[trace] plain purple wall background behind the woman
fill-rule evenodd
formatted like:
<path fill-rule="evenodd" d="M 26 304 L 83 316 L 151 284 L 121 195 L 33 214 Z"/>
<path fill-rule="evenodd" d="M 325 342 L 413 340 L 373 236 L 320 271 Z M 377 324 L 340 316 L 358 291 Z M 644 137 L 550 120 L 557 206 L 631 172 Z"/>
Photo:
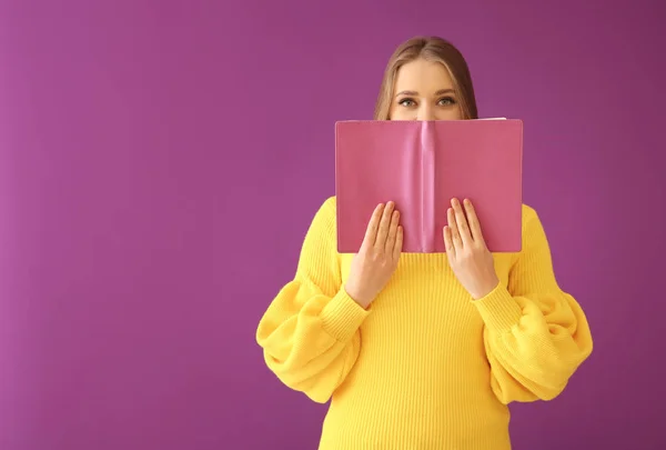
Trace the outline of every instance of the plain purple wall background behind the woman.
<path fill-rule="evenodd" d="M 2 2 L 0 448 L 314 449 L 325 407 L 254 332 L 334 193 L 334 121 L 421 33 L 525 121 L 525 201 L 593 327 L 515 449 L 664 448 L 666 14 L 609 4 Z"/>

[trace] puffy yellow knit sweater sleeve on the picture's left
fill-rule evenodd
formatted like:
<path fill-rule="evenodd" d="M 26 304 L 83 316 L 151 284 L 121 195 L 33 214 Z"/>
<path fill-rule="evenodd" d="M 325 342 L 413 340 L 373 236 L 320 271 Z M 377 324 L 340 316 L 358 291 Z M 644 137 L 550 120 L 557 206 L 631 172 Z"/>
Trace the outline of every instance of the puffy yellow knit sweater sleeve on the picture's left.
<path fill-rule="evenodd" d="M 320 403 L 329 401 L 355 363 L 359 329 L 370 314 L 341 280 L 334 201 L 330 198 L 316 212 L 294 278 L 278 292 L 256 330 L 268 368 Z"/>

